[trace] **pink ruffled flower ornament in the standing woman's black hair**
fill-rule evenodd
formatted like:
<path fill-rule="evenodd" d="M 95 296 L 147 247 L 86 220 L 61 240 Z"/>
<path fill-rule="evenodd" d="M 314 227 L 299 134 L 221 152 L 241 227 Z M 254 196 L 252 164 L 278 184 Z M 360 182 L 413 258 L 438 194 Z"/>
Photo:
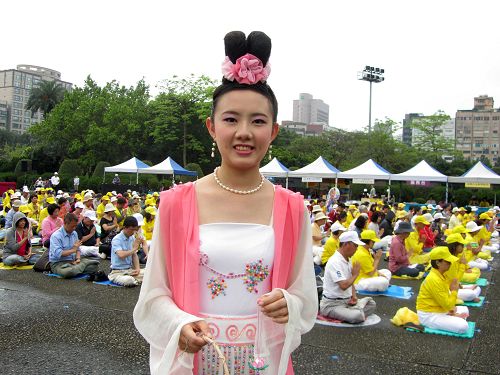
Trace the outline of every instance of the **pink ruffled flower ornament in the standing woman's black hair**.
<path fill-rule="evenodd" d="M 222 63 L 222 74 L 228 81 L 236 81 L 247 85 L 254 85 L 257 82 L 265 82 L 271 74 L 271 65 L 266 66 L 258 57 L 247 53 L 233 64 L 226 56 Z"/>

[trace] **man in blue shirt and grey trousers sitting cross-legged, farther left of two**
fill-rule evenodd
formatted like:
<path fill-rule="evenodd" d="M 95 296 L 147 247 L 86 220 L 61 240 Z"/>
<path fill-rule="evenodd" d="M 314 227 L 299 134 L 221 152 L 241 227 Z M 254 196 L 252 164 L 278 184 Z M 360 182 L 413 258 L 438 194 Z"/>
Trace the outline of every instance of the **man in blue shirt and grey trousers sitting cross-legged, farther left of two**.
<path fill-rule="evenodd" d="M 50 237 L 50 269 L 65 279 L 80 274 L 95 275 L 99 268 L 98 260 L 81 258 L 79 248 L 82 241 L 75 231 L 77 225 L 78 217 L 68 213 L 64 217 L 64 225 Z"/>

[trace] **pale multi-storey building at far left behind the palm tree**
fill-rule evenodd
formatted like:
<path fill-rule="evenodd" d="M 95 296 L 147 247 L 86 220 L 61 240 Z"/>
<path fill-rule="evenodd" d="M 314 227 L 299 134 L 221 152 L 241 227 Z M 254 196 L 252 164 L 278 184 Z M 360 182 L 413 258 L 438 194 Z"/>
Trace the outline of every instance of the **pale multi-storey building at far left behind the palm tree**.
<path fill-rule="evenodd" d="M 22 134 L 43 118 L 38 111 L 33 116 L 26 110 L 33 87 L 41 81 L 57 81 L 65 90 L 73 85 L 61 80 L 61 73 L 34 65 L 18 65 L 16 69 L 0 70 L 0 128 Z M 6 121 L 2 125 L 2 103 L 6 103 Z"/>

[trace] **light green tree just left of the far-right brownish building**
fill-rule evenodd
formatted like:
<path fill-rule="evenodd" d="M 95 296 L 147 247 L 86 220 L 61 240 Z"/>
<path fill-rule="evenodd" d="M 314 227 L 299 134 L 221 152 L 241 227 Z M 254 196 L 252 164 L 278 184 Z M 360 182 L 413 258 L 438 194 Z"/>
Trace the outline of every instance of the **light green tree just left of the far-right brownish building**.
<path fill-rule="evenodd" d="M 411 127 L 415 135 L 413 146 L 424 151 L 429 161 L 437 162 L 443 155 L 453 153 L 453 141 L 443 136 L 443 125 L 450 116 L 438 111 L 431 116 L 414 119 Z"/>

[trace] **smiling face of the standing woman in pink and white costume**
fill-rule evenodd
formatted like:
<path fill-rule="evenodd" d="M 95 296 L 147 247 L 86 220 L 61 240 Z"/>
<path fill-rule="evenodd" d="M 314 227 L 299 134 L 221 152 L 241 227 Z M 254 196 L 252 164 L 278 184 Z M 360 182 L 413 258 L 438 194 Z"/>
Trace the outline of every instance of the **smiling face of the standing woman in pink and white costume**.
<path fill-rule="evenodd" d="M 222 95 L 214 119 L 206 121 L 223 163 L 233 168 L 258 167 L 278 135 L 269 100 L 252 90 L 233 90 Z"/>

